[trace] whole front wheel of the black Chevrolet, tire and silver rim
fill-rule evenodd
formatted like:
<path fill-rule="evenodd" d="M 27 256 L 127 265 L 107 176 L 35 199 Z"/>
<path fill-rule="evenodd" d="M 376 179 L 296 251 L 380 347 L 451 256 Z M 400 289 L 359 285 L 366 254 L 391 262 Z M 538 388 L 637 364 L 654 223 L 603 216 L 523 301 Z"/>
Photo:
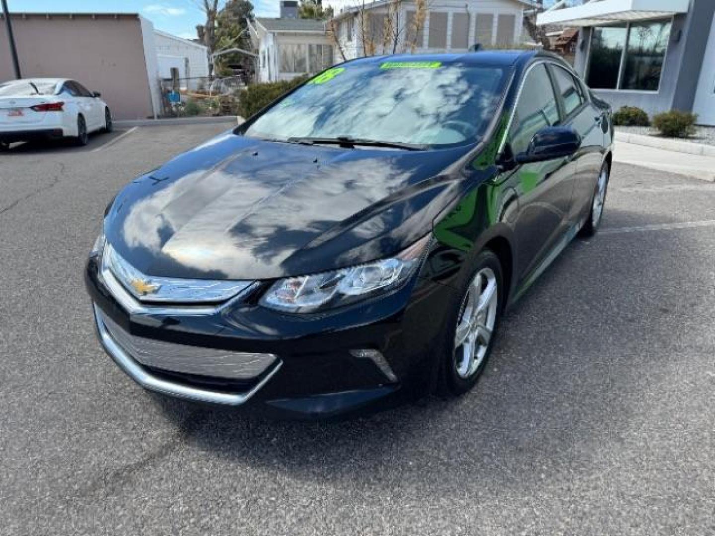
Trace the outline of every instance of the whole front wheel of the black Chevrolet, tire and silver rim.
<path fill-rule="evenodd" d="M 499 326 L 505 296 L 501 262 L 485 249 L 473 266 L 450 316 L 440 352 L 438 390 L 443 396 L 459 396 L 474 387 L 489 359 Z"/>

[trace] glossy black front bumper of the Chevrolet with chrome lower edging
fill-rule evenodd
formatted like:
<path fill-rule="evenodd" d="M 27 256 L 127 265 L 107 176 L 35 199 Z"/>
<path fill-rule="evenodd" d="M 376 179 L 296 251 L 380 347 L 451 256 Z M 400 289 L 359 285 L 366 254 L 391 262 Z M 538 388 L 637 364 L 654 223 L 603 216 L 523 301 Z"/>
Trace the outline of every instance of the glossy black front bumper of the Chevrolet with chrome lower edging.
<path fill-rule="evenodd" d="M 213 313 L 130 312 L 109 292 L 97 261 L 89 259 L 85 272 L 97 333 L 134 381 L 175 397 L 298 418 L 368 410 L 424 394 L 433 372 L 430 349 L 441 327 L 435 311 L 449 310 L 452 298 L 448 287 L 418 278 L 375 302 L 331 314 L 269 311 L 256 303 L 260 289 Z M 255 377 L 242 378 L 147 366 L 108 324 L 134 337 L 194 347 L 199 356 L 219 349 L 277 359 Z"/>

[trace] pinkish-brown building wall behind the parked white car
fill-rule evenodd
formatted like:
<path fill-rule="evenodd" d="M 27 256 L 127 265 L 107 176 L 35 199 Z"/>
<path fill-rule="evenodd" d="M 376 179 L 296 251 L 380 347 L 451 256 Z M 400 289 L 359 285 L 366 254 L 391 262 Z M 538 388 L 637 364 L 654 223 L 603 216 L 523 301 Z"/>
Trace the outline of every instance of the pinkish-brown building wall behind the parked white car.
<path fill-rule="evenodd" d="M 99 91 L 117 119 L 144 119 L 152 103 L 136 15 L 11 15 L 24 78 L 77 79 Z M 0 16 L 0 81 L 14 78 Z"/>

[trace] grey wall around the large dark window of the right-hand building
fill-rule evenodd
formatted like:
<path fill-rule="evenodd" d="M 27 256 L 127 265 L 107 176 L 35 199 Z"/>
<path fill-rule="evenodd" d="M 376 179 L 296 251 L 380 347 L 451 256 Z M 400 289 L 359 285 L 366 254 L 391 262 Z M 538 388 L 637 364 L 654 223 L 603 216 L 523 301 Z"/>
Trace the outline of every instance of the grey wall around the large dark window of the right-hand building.
<path fill-rule="evenodd" d="M 693 0 L 688 14 L 674 16 L 659 91 L 596 89 L 593 92 L 611 104 L 614 110 L 621 106 L 637 106 L 651 116 L 670 109 L 690 111 L 714 11 L 715 1 Z M 591 28 L 581 29 L 579 44 L 582 40 L 585 44 L 576 49 L 574 68 L 583 76 L 586 74 L 590 39 Z"/>

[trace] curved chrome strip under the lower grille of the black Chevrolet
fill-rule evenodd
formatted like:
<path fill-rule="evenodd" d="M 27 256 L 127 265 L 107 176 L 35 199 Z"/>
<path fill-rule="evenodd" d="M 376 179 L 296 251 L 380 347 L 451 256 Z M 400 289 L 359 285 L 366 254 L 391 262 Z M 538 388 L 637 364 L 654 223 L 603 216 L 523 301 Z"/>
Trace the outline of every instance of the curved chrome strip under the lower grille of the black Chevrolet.
<path fill-rule="evenodd" d="M 167 382 L 167 380 L 158 378 L 149 374 L 146 369 L 142 367 L 139 362 L 135 361 L 112 337 L 112 334 L 107 328 L 107 322 L 112 322 L 107 320 L 102 314 L 101 310 L 97 305 L 94 307 L 94 319 L 97 322 L 97 331 L 99 332 L 99 339 L 102 342 L 102 346 L 107 350 L 109 356 L 114 359 L 119 367 L 124 370 L 129 377 L 134 379 L 139 385 L 145 389 L 150 389 L 152 391 L 162 392 L 164 394 L 170 394 L 174 397 L 187 398 L 192 400 L 198 400 L 200 402 L 211 402 L 213 404 L 225 404 L 225 405 L 242 405 L 250 397 L 252 397 L 256 392 L 258 392 L 273 375 L 278 372 L 282 362 L 280 359 L 275 360 L 275 365 L 273 368 L 265 374 L 265 377 L 258 382 L 255 387 L 250 389 L 250 391 L 245 393 L 225 393 L 225 392 L 215 392 L 208 389 L 199 389 L 197 387 L 189 387 L 183 384 L 176 384 L 174 382 Z M 120 328 L 121 329 L 121 328 Z"/>

